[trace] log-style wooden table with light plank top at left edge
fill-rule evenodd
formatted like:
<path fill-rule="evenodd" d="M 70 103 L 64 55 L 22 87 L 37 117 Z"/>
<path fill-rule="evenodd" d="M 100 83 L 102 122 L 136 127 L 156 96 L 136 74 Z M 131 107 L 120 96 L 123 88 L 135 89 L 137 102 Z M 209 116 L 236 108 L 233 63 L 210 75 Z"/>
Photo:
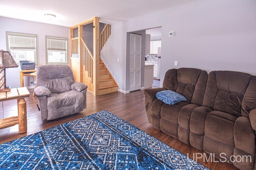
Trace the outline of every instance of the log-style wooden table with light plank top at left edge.
<path fill-rule="evenodd" d="M 18 102 L 18 116 L 0 119 L 0 129 L 19 124 L 19 133 L 27 131 L 27 105 L 24 98 L 29 96 L 30 92 L 26 87 L 12 88 L 10 92 L 0 92 L 0 102 L 14 99 Z"/>

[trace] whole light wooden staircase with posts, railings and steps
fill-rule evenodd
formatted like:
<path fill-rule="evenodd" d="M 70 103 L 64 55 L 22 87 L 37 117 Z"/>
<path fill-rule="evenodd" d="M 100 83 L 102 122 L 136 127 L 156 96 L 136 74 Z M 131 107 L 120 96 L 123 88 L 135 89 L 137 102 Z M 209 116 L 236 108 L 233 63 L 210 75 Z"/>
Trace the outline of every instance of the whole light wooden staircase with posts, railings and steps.
<path fill-rule="evenodd" d="M 93 25 L 93 51 L 90 51 L 84 41 L 84 25 Z M 75 35 L 75 29 L 78 35 Z M 111 25 L 106 24 L 100 33 L 98 17 L 91 18 L 82 23 L 70 27 L 70 68 L 76 82 L 83 82 L 88 86 L 87 90 L 94 96 L 118 91 L 118 85 L 110 74 L 106 65 L 100 59 L 100 50 L 104 47 L 111 35 Z M 76 37 L 75 37 L 76 36 Z"/>

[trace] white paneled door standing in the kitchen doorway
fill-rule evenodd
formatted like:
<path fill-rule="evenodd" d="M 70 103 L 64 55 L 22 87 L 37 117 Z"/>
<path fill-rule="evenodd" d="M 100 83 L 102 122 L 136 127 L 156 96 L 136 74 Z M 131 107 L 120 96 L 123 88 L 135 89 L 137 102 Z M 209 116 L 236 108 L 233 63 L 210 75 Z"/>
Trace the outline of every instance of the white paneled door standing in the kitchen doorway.
<path fill-rule="evenodd" d="M 130 92 L 141 89 L 142 35 L 130 33 Z"/>

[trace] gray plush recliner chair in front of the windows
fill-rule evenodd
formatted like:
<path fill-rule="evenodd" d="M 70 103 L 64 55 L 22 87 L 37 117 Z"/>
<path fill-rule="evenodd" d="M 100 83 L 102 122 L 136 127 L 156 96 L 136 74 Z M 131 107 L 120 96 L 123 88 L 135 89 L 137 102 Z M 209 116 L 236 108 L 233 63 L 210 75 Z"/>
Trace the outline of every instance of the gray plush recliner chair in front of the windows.
<path fill-rule="evenodd" d="M 74 82 L 67 65 L 38 66 L 34 94 L 38 99 L 42 120 L 53 120 L 86 108 L 87 86 Z"/>

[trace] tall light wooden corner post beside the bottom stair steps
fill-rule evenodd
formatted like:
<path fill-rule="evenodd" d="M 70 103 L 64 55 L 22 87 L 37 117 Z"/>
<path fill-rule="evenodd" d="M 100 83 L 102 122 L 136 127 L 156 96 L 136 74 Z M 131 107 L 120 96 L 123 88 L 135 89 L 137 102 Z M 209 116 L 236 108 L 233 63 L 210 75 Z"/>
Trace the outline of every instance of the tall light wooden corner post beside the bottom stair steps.
<path fill-rule="evenodd" d="M 100 20 L 93 18 L 93 95 L 99 95 L 100 64 Z"/>

